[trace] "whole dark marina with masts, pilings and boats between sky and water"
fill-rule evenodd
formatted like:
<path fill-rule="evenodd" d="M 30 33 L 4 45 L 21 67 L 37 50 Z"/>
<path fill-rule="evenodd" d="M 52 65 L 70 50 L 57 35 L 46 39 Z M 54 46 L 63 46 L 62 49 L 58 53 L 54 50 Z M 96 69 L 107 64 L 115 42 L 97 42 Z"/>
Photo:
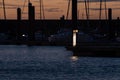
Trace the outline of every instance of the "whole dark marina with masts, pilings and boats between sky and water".
<path fill-rule="evenodd" d="M 119 56 L 120 20 L 112 18 L 112 8 L 106 9 L 106 19 L 102 20 L 102 0 L 98 20 L 89 19 L 89 1 L 85 1 L 86 20 L 78 20 L 77 0 L 68 1 L 67 15 L 59 20 L 45 20 L 44 5 L 40 2 L 40 19 L 35 19 L 35 6 L 28 1 L 28 20 L 22 20 L 22 10 L 17 8 L 17 20 L 6 20 L 3 1 L 4 20 L 1 21 L 1 45 L 28 46 L 66 46 L 73 53 L 81 52 L 114 52 Z M 71 20 L 68 20 L 71 3 Z M 25 5 L 24 5 L 25 6 Z M 24 8 L 23 6 L 23 8 Z M 65 19 L 66 17 L 66 19 Z M 84 54 L 83 54 L 84 55 Z M 88 54 L 86 54 L 88 55 Z M 91 55 L 98 55 L 92 54 Z M 90 55 L 88 55 L 90 56 Z M 100 56 L 106 56 L 101 54 Z M 109 55 L 108 55 L 109 56 Z M 112 56 L 112 54 L 110 54 Z"/>

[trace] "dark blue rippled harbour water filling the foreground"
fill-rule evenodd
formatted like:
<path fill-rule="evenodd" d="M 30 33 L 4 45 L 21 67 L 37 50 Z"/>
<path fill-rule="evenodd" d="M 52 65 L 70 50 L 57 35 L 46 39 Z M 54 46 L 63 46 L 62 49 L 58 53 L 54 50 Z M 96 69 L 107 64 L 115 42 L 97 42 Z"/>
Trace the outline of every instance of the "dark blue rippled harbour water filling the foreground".
<path fill-rule="evenodd" d="M 0 46 L 0 80 L 120 80 L 119 58 L 71 57 L 64 47 Z"/>

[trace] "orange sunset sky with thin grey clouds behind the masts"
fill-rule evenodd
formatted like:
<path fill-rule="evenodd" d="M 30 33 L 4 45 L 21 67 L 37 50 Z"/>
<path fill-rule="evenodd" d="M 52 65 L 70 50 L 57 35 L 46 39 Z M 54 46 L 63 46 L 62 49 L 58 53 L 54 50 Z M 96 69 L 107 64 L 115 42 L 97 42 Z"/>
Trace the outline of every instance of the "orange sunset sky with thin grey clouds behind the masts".
<path fill-rule="evenodd" d="M 23 10 L 25 0 L 5 0 L 7 19 L 16 19 L 16 9 L 20 7 Z M 26 0 L 27 1 L 27 0 Z M 86 19 L 84 0 L 78 0 L 79 19 Z M 99 18 L 99 0 L 90 0 L 90 19 Z M 104 1 L 104 0 L 103 0 Z M 31 0 L 35 6 L 36 19 L 39 19 L 39 0 Z M 59 19 L 62 15 L 67 14 L 68 0 L 43 0 L 45 19 Z M 27 19 L 27 5 L 22 14 L 22 19 Z M 107 0 L 107 8 L 113 9 L 113 18 L 120 17 L 120 0 Z M 71 8 L 70 8 L 71 10 Z M 71 18 L 71 11 L 69 19 Z M 105 18 L 104 2 L 102 5 L 102 18 Z M 2 0 L 0 0 L 0 19 L 4 19 Z"/>

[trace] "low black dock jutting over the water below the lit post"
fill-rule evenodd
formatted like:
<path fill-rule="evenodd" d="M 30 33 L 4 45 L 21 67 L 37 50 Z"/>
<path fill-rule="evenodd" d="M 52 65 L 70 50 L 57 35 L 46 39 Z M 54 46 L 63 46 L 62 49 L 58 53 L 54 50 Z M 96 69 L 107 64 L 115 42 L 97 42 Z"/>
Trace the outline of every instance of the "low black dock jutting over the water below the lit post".
<path fill-rule="evenodd" d="M 75 47 L 67 46 L 74 56 L 82 57 L 120 57 L 120 43 L 81 43 Z"/>

